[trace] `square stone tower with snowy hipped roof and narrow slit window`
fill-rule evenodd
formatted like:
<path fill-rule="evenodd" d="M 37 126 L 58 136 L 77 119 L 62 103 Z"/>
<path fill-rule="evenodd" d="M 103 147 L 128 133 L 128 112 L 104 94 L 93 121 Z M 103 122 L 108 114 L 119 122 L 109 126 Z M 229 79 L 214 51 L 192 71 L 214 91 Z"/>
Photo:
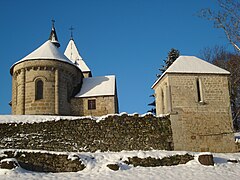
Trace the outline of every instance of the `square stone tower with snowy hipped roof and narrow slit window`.
<path fill-rule="evenodd" d="M 170 114 L 175 150 L 234 152 L 230 73 L 180 56 L 153 84 L 156 113 Z"/>

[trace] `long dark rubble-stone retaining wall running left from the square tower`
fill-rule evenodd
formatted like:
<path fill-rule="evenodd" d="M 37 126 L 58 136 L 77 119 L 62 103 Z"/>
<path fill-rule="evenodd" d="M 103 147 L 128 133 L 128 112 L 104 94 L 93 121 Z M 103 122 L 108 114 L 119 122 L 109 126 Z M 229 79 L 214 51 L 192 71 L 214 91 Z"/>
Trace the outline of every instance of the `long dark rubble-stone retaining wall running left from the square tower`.
<path fill-rule="evenodd" d="M 1 120 L 0 120 L 1 121 Z M 173 150 L 169 117 L 108 116 L 39 123 L 0 123 L 1 149 L 51 151 Z"/>

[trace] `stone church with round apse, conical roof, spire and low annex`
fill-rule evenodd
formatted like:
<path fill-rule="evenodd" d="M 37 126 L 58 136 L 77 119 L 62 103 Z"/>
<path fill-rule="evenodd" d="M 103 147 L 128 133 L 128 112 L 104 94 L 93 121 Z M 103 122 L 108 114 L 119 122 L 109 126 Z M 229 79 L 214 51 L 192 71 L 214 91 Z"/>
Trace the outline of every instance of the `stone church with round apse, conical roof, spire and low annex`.
<path fill-rule="evenodd" d="M 11 66 L 12 114 L 118 113 L 116 77 L 93 77 L 72 35 L 64 53 L 59 47 L 53 22 L 49 39 Z"/>

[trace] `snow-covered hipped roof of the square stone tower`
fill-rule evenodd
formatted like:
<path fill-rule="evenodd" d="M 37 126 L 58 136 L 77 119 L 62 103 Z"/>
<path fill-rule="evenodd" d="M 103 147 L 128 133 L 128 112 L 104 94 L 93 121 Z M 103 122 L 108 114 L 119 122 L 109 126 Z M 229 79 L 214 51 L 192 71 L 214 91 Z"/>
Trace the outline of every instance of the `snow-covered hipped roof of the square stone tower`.
<path fill-rule="evenodd" d="M 230 74 L 230 72 L 195 56 L 179 56 L 161 77 L 155 81 L 152 88 L 167 73 Z"/>

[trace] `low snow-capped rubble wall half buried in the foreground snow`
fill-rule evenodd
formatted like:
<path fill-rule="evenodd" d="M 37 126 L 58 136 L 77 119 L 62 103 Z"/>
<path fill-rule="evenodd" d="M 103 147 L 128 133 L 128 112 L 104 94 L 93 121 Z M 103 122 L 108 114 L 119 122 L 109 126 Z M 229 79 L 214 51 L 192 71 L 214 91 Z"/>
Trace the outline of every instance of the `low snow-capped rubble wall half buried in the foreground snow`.
<path fill-rule="evenodd" d="M 94 153 L 93 153 L 94 154 Z M 208 155 L 209 156 L 209 155 Z M 1 150 L 0 151 L 0 169 L 13 169 L 21 167 L 23 169 L 35 172 L 77 172 L 85 168 L 89 169 L 88 165 L 101 164 L 101 161 L 106 161 L 102 157 L 101 160 L 96 160 L 96 157 L 91 154 L 81 153 L 59 153 L 54 151 L 31 151 L 31 150 Z M 108 159 L 109 157 L 107 157 Z M 126 170 L 131 166 L 142 167 L 157 167 L 157 166 L 174 166 L 186 164 L 194 159 L 193 155 L 189 154 L 172 154 L 161 159 L 154 157 L 139 158 L 138 156 L 128 156 L 127 160 L 122 158 L 115 159 L 114 164 L 111 159 L 108 163 L 102 164 L 111 170 Z M 92 164 L 93 163 L 93 164 Z M 96 164 L 97 163 L 97 164 Z M 104 168 L 104 167 L 102 167 Z"/>

